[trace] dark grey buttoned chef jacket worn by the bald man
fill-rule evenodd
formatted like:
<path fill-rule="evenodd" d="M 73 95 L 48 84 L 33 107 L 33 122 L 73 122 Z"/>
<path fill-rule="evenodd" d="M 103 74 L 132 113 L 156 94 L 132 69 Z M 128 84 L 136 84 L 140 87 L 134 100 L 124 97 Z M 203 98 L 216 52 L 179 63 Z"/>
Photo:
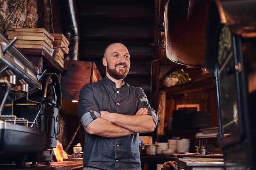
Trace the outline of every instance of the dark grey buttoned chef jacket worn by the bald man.
<path fill-rule="evenodd" d="M 107 76 L 99 82 L 85 84 L 79 94 L 79 116 L 86 126 L 97 117 L 100 111 L 123 115 L 135 115 L 139 108 L 147 108 L 157 125 L 157 115 L 150 107 L 147 97 L 140 87 L 124 83 L 115 87 Z M 141 122 L 144 124 L 144 122 Z M 124 137 L 105 138 L 85 132 L 83 165 L 104 170 L 141 170 L 139 155 L 139 134 Z"/>

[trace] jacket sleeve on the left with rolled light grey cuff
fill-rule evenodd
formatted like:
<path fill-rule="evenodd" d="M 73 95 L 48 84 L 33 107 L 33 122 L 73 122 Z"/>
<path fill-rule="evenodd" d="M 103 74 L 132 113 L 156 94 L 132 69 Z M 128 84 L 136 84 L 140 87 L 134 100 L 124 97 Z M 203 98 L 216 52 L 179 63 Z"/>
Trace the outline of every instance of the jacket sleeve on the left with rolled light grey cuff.
<path fill-rule="evenodd" d="M 85 84 L 80 90 L 78 112 L 85 129 L 90 122 L 97 117 L 101 117 L 99 104 L 94 98 L 94 93 L 90 84 Z"/>

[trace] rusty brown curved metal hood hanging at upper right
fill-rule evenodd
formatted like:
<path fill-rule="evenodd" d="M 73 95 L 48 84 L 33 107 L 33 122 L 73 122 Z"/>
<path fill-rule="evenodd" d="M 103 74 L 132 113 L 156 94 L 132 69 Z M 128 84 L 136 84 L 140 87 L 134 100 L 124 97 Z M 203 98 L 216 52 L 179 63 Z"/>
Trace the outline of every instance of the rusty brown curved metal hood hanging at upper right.
<path fill-rule="evenodd" d="M 166 55 L 173 62 L 204 67 L 204 40 L 208 1 L 193 9 L 184 20 L 175 4 L 169 1 L 165 8 Z"/>

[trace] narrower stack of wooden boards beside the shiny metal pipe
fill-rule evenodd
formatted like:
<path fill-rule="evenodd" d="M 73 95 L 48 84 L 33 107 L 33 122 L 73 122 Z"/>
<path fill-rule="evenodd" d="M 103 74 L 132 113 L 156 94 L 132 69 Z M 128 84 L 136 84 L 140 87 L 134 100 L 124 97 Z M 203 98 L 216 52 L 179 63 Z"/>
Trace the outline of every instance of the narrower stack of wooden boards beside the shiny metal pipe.
<path fill-rule="evenodd" d="M 54 46 L 52 57 L 64 68 L 64 54 L 68 54 L 70 42 L 63 34 L 54 33 L 51 35 L 54 37 L 54 41 L 52 42 Z"/>

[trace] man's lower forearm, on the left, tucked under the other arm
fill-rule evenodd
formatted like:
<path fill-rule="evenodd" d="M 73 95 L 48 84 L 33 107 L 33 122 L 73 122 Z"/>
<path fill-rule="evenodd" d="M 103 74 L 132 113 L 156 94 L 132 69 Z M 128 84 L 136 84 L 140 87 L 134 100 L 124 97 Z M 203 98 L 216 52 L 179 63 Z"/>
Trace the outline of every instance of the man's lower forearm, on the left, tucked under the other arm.
<path fill-rule="evenodd" d="M 123 137 L 135 133 L 127 130 L 126 128 L 115 125 L 101 117 L 98 117 L 88 124 L 86 127 L 86 132 L 90 133 L 91 135 L 98 135 L 107 138 Z"/>

